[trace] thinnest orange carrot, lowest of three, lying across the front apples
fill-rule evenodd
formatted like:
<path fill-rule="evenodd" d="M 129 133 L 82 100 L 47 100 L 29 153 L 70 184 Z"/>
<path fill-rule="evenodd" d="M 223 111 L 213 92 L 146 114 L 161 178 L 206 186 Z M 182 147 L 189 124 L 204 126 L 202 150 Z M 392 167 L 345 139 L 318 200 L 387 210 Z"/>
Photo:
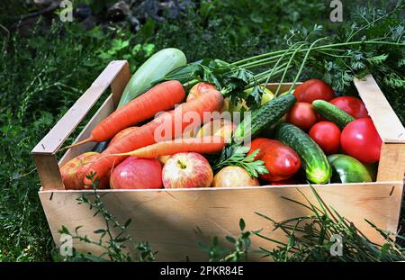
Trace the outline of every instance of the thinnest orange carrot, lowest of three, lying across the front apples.
<path fill-rule="evenodd" d="M 174 155 L 181 152 L 196 152 L 211 154 L 220 152 L 225 146 L 225 140 L 220 136 L 205 136 L 202 138 L 185 138 L 166 140 L 127 153 L 110 156 L 134 156 L 138 158 L 157 158 L 158 156 Z"/>

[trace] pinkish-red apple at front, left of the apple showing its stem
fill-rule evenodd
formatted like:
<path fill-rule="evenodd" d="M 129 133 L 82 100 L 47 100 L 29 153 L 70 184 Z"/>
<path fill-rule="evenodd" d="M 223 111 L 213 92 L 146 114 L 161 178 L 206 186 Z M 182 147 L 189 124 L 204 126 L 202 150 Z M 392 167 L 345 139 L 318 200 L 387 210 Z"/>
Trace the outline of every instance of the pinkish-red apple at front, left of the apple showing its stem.
<path fill-rule="evenodd" d="M 128 157 L 112 170 L 111 188 L 162 188 L 162 167 L 155 158 Z"/>

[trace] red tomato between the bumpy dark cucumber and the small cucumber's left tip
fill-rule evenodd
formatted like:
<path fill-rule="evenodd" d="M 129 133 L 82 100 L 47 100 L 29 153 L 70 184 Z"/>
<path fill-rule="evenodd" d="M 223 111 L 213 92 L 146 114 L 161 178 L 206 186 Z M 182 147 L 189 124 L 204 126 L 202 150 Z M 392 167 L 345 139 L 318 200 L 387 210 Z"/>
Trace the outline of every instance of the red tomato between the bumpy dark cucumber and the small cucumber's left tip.
<path fill-rule="evenodd" d="M 301 128 L 302 131 L 308 131 L 317 122 L 317 113 L 312 109 L 312 104 L 297 102 L 287 114 L 286 120 Z"/>

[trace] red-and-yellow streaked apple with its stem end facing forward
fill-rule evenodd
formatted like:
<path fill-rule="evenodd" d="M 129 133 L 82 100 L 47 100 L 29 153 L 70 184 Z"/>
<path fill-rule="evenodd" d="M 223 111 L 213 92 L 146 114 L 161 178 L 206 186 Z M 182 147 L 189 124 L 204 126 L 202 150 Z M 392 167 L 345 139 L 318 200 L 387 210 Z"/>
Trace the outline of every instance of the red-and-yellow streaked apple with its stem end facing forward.
<path fill-rule="evenodd" d="M 184 152 L 167 159 L 162 178 L 165 188 L 209 187 L 213 174 L 206 158 L 198 153 Z"/>

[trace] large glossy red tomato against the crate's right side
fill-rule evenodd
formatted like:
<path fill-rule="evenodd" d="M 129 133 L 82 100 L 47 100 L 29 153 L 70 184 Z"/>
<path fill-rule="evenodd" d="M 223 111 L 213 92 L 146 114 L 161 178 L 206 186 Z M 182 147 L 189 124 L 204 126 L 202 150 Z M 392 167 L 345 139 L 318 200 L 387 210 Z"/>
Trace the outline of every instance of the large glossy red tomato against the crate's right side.
<path fill-rule="evenodd" d="M 340 143 L 347 155 L 363 163 L 374 163 L 380 160 L 383 141 L 370 118 L 349 122 L 342 131 Z"/>

